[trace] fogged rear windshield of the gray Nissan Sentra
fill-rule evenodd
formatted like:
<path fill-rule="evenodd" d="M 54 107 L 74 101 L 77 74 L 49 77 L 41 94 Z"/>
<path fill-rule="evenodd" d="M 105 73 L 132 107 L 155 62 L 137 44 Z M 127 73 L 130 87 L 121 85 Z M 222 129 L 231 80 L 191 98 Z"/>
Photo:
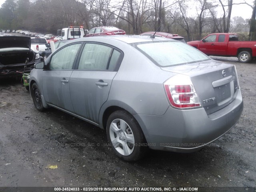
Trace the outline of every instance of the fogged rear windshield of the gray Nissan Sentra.
<path fill-rule="evenodd" d="M 144 42 L 136 44 L 136 48 L 161 67 L 210 60 L 192 46 L 178 41 Z"/>

